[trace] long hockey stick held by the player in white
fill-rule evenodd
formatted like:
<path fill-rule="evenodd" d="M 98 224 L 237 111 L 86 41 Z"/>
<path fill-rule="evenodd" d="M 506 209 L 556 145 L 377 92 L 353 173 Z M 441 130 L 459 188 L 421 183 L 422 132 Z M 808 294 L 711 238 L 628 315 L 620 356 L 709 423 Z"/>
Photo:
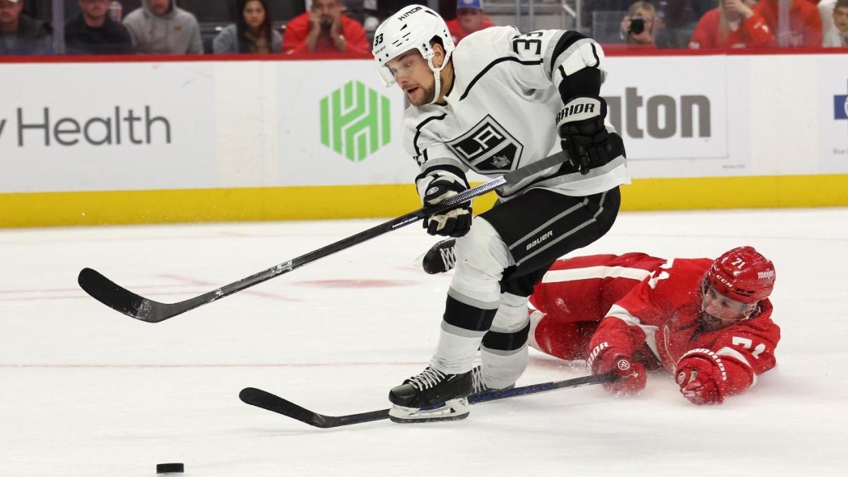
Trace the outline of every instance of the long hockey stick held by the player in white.
<path fill-rule="evenodd" d="M 253 275 L 242 278 L 237 282 L 230 283 L 215 289 L 204 295 L 199 295 L 189 300 L 179 301 L 177 303 L 160 303 L 159 301 L 144 298 L 141 295 L 136 295 L 119 284 L 114 283 L 109 278 L 106 278 L 100 272 L 92 268 L 83 268 L 77 278 L 80 287 L 86 291 L 88 295 L 92 295 L 95 300 L 109 306 L 116 311 L 120 311 L 129 317 L 136 318 L 142 322 L 159 323 L 167 320 L 170 317 L 176 317 L 181 313 L 193 310 L 198 306 L 204 306 L 227 295 L 232 295 L 237 291 L 247 289 L 255 284 L 265 282 L 271 278 L 282 275 L 283 273 L 291 272 L 295 268 L 303 267 L 307 263 L 316 261 L 320 258 L 332 255 L 340 250 L 345 250 L 355 244 L 361 244 L 366 240 L 373 239 L 383 233 L 391 232 L 399 227 L 404 227 L 412 222 L 417 222 L 427 216 L 438 213 L 443 210 L 448 210 L 454 205 L 466 202 L 479 195 L 486 194 L 494 189 L 504 186 L 514 186 L 527 177 L 531 177 L 538 172 L 544 171 L 550 167 L 557 166 L 568 160 L 565 153 L 557 153 L 550 155 L 543 160 L 538 160 L 529 166 L 524 166 L 515 171 L 507 172 L 502 177 L 494 179 L 494 181 L 486 182 L 476 188 L 470 188 L 465 192 L 456 194 L 438 205 L 423 207 L 414 212 L 410 212 L 405 216 L 392 219 L 384 222 L 377 227 L 371 227 L 368 230 L 357 233 L 341 239 L 333 244 L 321 247 L 321 249 L 313 250 L 305 255 L 300 255 L 290 261 L 283 262 L 275 267 L 268 268 L 262 272 L 254 273 Z"/>

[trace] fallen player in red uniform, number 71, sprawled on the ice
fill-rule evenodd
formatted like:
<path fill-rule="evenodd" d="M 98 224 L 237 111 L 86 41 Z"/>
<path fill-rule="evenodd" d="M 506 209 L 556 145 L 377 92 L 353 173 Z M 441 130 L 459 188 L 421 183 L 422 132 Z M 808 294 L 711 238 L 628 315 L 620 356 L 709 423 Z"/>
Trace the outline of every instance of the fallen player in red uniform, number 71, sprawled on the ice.
<path fill-rule="evenodd" d="M 531 345 L 593 373 L 614 394 L 644 389 L 645 369 L 674 373 L 684 397 L 718 404 L 775 365 L 775 273 L 752 247 L 710 259 L 592 255 L 557 261 L 536 285 Z M 599 323 L 600 322 L 600 323 Z"/>

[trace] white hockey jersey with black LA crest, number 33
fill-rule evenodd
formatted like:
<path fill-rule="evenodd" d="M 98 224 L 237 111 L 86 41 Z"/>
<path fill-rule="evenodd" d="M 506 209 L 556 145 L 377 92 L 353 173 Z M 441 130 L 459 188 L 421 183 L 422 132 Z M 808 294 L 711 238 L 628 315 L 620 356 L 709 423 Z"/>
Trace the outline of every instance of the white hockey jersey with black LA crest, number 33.
<path fill-rule="evenodd" d="M 566 75 L 595 67 L 604 71 L 604 53 L 593 40 L 577 36 L 557 51 L 562 30 L 522 35 L 514 27 L 477 31 L 454 50 L 454 84 L 447 104 L 412 106 L 404 114 L 404 147 L 421 166 L 419 192 L 432 176 L 466 182 L 470 169 L 499 176 L 561 151 L 555 116 L 562 108 L 558 85 Z M 555 57 L 554 57 L 555 56 Z M 612 126 L 607 125 L 610 132 Z M 460 172 L 461 171 L 461 172 Z M 503 191 L 503 199 L 530 188 L 584 196 L 629 183 L 623 155 L 589 174 L 542 171 Z M 423 194 L 421 194 L 423 196 Z"/>

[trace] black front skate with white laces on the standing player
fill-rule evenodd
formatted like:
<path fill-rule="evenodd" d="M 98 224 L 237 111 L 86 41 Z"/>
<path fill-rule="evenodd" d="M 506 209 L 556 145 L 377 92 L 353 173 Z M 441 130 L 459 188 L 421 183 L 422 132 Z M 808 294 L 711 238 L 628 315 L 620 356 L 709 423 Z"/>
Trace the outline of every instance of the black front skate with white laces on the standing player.
<path fill-rule="evenodd" d="M 388 418 L 396 423 L 453 421 L 468 417 L 471 371 L 445 374 L 427 367 L 421 374 L 388 391 L 392 408 Z"/>

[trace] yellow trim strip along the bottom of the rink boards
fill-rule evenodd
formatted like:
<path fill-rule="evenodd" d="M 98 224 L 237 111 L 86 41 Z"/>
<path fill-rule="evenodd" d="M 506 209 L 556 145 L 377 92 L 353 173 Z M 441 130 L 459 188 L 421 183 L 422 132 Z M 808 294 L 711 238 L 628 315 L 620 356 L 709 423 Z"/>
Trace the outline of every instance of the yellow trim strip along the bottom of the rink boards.
<path fill-rule="evenodd" d="M 494 194 L 475 201 L 488 210 Z M 848 205 L 848 174 L 634 179 L 622 210 Z M 0 194 L 0 227 L 236 222 L 402 216 L 412 184 Z"/>

